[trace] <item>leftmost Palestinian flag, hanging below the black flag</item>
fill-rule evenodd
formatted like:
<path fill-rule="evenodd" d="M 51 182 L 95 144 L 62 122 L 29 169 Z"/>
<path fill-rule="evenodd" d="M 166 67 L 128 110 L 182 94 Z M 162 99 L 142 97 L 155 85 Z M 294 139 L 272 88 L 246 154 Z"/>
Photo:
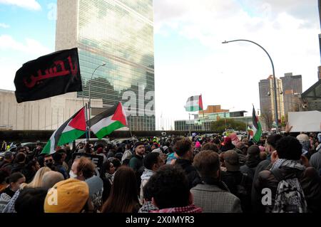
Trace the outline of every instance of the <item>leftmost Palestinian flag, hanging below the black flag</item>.
<path fill-rule="evenodd" d="M 78 139 L 86 132 L 85 107 L 78 110 L 71 118 L 51 135 L 41 154 L 53 154 L 56 147 Z"/>

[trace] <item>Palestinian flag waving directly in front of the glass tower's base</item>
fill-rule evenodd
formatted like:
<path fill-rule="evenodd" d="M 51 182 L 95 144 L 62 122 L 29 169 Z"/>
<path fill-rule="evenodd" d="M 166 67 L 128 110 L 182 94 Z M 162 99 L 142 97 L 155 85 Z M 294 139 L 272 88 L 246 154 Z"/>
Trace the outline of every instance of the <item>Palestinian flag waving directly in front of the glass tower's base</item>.
<path fill-rule="evenodd" d="M 96 134 L 98 139 L 111 134 L 111 132 L 121 127 L 126 127 L 127 120 L 123 105 L 121 105 L 121 102 L 118 102 L 117 105 L 89 120 L 88 125 L 91 125 L 91 131 Z"/>

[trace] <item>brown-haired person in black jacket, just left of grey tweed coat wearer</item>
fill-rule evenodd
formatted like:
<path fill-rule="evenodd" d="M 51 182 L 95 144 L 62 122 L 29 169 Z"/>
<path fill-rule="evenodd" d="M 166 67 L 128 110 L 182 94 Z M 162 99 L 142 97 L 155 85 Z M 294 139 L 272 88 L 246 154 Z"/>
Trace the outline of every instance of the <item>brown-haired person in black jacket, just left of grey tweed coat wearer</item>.
<path fill-rule="evenodd" d="M 175 165 L 182 167 L 185 174 L 188 176 L 188 182 L 190 189 L 201 182 L 200 176 L 193 167 L 193 146 L 192 142 L 188 138 L 179 139 L 175 142 L 174 151 L 178 156 L 175 161 Z"/>

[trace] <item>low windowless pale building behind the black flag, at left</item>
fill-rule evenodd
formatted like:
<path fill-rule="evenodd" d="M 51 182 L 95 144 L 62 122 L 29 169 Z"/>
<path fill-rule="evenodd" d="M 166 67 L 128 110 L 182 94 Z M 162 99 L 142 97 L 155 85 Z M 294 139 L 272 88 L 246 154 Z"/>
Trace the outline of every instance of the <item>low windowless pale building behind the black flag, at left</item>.
<path fill-rule="evenodd" d="M 18 103 L 14 91 L 0 89 L 0 130 L 56 130 L 84 103 L 76 93 Z M 103 100 L 91 99 L 91 106 L 103 107 Z"/>

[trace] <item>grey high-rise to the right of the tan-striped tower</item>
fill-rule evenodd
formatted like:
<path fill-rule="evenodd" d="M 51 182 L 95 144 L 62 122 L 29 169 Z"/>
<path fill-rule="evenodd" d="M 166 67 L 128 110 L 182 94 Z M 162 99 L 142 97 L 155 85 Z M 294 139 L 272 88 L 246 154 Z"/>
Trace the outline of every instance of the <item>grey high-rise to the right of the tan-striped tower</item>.
<path fill-rule="evenodd" d="M 295 112 L 300 110 L 299 96 L 302 94 L 302 75 L 292 75 L 285 73 L 280 78 L 283 87 L 284 112 Z"/>

